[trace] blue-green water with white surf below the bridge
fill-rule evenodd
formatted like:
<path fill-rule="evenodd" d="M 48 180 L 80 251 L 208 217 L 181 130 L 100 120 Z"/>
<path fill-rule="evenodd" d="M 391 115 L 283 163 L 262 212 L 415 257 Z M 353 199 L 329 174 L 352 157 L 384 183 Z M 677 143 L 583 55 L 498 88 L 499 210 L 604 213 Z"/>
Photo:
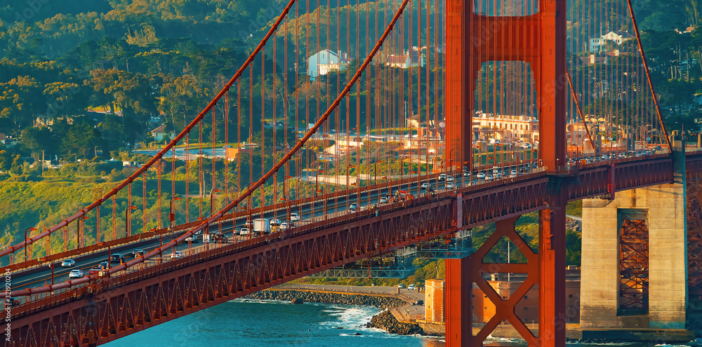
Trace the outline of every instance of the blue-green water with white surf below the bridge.
<path fill-rule="evenodd" d="M 399 336 L 365 325 L 379 308 L 336 304 L 291 304 L 235 299 L 105 343 L 107 347 L 444 347 L 431 336 Z M 343 329 L 339 329 L 339 328 Z M 356 335 L 359 333 L 359 335 Z M 489 338 L 489 346 L 527 346 L 520 339 Z M 578 343 L 569 347 L 702 347 L 688 343 Z"/>

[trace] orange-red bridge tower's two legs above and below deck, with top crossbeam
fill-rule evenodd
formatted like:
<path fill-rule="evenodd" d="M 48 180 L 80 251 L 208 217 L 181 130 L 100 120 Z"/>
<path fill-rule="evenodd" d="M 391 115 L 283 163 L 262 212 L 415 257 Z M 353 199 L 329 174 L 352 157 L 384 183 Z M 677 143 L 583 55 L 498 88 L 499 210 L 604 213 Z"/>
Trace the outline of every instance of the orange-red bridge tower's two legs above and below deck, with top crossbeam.
<path fill-rule="evenodd" d="M 565 184 L 557 172 L 566 154 L 566 0 L 541 0 L 538 12 L 525 16 L 475 13 L 473 1 L 446 1 L 446 163 L 472 170 L 472 116 L 475 83 L 483 62 L 524 61 L 534 75 L 538 95 L 539 158 L 552 174 L 548 209 L 539 214 L 539 334 L 541 346 L 565 345 Z M 534 50 L 534 47 L 541 48 Z M 453 306 L 452 290 L 470 296 L 463 261 L 448 261 L 446 306 Z M 456 264 L 452 264 L 456 263 Z M 449 273 L 449 268 L 453 269 Z M 449 279 L 449 275 L 451 278 Z M 475 278 L 474 280 L 477 280 Z M 452 286 L 451 283 L 460 283 Z M 452 289 L 453 288 L 453 289 Z M 463 299 L 465 300 L 465 299 Z M 461 301 L 463 307 L 463 301 Z M 465 327 L 463 308 L 446 311 L 446 329 Z M 458 319 L 458 320 L 457 320 Z M 455 320 L 456 325 L 452 324 Z M 450 327 L 449 327 L 450 326 Z M 463 332 L 463 335 L 468 332 Z M 468 339 L 449 339 L 447 346 L 468 346 Z"/>

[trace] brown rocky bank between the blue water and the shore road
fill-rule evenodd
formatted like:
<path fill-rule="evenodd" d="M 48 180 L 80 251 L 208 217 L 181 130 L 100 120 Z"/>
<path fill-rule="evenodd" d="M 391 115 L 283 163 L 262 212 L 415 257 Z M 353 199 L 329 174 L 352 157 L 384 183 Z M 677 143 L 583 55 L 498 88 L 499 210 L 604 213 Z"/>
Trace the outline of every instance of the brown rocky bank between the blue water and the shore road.
<path fill-rule="evenodd" d="M 333 292 L 314 292 L 311 290 L 262 290 L 246 295 L 241 299 L 252 300 L 279 300 L 314 302 L 319 304 L 339 304 L 354 306 L 375 306 L 384 308 L 385 311 L 378 313 L 371 318 L 371 322 L 366 327 L 383 329 L 390 334 L 413 335 L 424 334 L 424 331 L 417 323 L 399 322 L 389 308 L 406 305 L 406 301 L 395 297 L 383 297 L 373 294 L 340 294 Z"/>

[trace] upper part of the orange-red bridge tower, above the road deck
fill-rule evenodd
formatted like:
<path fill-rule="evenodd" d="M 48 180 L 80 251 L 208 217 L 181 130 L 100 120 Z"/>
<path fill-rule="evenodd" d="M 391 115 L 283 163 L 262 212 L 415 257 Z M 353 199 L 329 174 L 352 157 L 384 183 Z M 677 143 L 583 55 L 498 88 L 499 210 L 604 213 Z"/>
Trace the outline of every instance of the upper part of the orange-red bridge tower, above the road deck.
<path fill-rule="evenodd" d="M 472 168 L 471 123 L 482 62 L 521 60 L 536 81 L 539 156 L 549 170 L 565 165 L 566 10 L 565 0 L 542 0 L 534 15 L 489 16 L 475 13 L 473 1 L 446 0 L 446 163 Z"/>

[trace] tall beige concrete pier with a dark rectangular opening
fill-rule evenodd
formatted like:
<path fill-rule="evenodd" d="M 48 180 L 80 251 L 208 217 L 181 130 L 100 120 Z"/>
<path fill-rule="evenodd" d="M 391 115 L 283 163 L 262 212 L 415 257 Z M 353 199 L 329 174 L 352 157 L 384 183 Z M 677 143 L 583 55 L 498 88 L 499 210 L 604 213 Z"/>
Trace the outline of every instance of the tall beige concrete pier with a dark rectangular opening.
<path fill-rule="evenodd" d="M 689 334 L 685 157 L 675 144 L 673 183 L 583 200 L 583 338 Z"/>

